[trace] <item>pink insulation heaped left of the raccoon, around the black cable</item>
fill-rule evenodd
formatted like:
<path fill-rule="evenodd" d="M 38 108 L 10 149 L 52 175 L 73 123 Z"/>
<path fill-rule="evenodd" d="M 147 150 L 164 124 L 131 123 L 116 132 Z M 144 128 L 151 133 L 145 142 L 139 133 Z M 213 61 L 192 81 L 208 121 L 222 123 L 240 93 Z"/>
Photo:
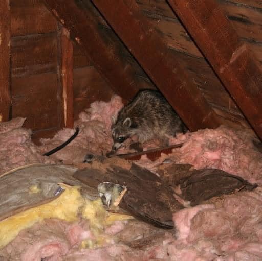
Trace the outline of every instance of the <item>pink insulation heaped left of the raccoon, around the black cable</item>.
<path fill-rule="evenodd" d="M 78 136 L 67 147 L 50 157 L 42 154 L 64 143 L 74 134 L 73 129 L 64 128 L 54 138 L 42 139 L 42 145 L 37 147 L 31 141 L 31 130 L 22 128 L 26 118 L 17 117 L 0 123 L 1 173 L 30 163 L 81 163 L 88 153 L 110 151 L 113 144 L 112 116 L 116 117 L 122 106 L 119 96 L 113 96 L 108 103 L 92 103 L 91 108 L 81 112 L 79 120 L 75 121 L 75 126 L 80 129 Z"/>

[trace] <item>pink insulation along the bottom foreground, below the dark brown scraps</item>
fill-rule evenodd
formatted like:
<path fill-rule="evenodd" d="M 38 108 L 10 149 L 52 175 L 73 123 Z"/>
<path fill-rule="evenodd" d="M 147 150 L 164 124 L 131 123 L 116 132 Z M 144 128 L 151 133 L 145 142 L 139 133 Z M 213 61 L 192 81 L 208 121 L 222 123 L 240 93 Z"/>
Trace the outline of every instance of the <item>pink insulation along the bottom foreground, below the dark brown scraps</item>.
<path fill-rule="evenodd" d="M 239 192 L 224 200 L 174 213 L 177 230 L 139 221 L 115 222 L 100 235 L 104 244 L 80 248 L 95 240 L 87 221 L 55 219 L 35 224 L 0 250 L 3 260 L 261 260 L 262 191 Z M 150 237 L 147 245 L 132 242 Z M 1 259 L 2 260 L 2 259 Z"/>

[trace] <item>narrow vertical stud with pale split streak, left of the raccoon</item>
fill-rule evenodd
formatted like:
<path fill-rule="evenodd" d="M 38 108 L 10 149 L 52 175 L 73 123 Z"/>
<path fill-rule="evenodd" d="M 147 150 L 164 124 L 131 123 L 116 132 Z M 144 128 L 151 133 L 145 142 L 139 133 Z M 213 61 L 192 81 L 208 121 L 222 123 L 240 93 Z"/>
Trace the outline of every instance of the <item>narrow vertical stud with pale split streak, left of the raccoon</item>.
<path fill-rule="evenodd" d="M 64 126 L 74 127 L 74 91 L 73 91 L 73 42 L 69 32 L 61 28 L 61 76 L 62 76 L 62 111 Z"/>

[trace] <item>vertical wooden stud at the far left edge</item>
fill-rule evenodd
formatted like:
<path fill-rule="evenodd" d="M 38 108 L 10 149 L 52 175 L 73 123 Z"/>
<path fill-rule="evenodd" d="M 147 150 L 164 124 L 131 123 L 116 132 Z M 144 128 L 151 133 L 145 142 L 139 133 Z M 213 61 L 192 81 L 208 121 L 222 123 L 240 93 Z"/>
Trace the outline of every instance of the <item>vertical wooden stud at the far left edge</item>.
<path fill-rule="evenodd" d="M 9 1 L 0 1 L 0 122 L 8 121 L 10 97 L 10 7 Z"/>

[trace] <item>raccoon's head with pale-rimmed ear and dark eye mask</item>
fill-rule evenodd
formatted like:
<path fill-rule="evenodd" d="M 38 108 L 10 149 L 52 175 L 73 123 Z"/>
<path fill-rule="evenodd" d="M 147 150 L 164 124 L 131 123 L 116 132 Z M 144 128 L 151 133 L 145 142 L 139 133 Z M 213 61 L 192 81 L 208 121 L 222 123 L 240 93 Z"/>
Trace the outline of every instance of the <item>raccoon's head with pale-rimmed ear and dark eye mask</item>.
<path fill-rule="evenodd" d="M 134 134 L 135 126 L 132 125 L 130 118 L 125 118 L 123 121 L 117 121 L 112 124 L 112 136 L 114 140 L 112 150 L 117 150 L 121 144 Z"/>

